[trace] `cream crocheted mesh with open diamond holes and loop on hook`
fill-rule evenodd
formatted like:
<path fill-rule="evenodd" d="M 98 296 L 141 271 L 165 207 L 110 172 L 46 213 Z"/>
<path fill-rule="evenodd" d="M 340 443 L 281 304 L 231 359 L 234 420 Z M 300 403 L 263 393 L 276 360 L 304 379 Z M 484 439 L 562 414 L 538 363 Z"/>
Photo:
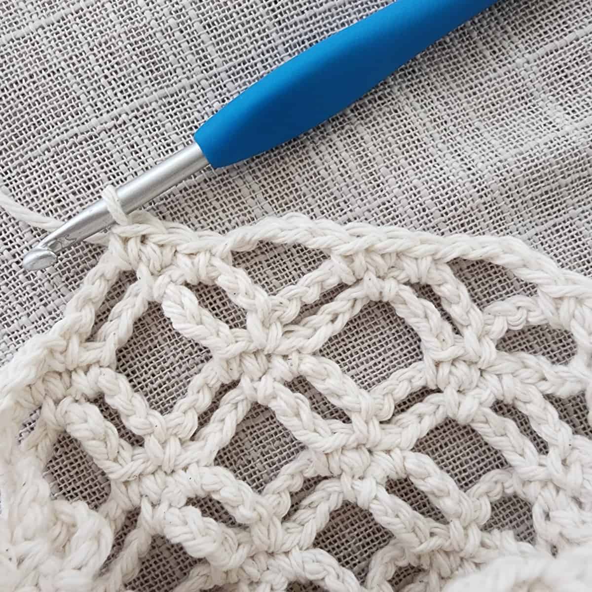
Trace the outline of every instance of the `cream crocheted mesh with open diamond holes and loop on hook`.
<path fill-rule="evenodd" d="M 387 592 L 395 570 L 406 565 L 422 570 L 407 592 L 592 588 L 592 442 L 574 435 L 552 404 L 584 391 L 592 408 L 592 281 L 509 238 L 437 237 L 298 215 L 221 236 L 146 213 L 126 220 L 112 190 L 104 197 L 121 223 L 107 251 L 63 320 L 31 339 L 0 374 L 2 590 L 124 590 L 156 535 L 200 560 L 176 592 L 215 586 L 268 592 L 287 590 L 292 582 L 332 592 Z M 300 244 L 328 259 L 270 295 L 233 265 L 234 252 L 260 242 Z M 449 266 L 458 258 L 503 266 L 535 285 L 536 295 L 480 310 Z M 136 282 L 92 333 L 110 287 L 130 270 Z M 222 288 L 244 310 L 244 327 L 231 329 L 202 308 L 188 287 L 197 284 Z M 303 305 L 339 284 L 348 288 L 316 312 L 301 314 Z M 414 284 L 433 288 L 453 324 L 417 295 Z M 211 352 L 185 396 L 164 415 L 116 369 L 118 348 L 152 301 L 162 305 L 176 331 Z M 423 359 L 364 390 L 318 350 L 347 331 L 348 320 L 371 301 L 389 303 L 413 327 Z M 568 365 L 553 365 L 542 356 L 496 349 L 508 330 L 532 325 L 570 332 L 577 355 Z M 298 376 L 345 411 L 349 422 L 314 413 L 304 395 L 286 386 Z M 202 422 L 216 392 L 233 381 L 237 387 Z M 424 387 L 437 392 L 397 411 L 398 403 Z M 143 438 L 142 446 L 118 435 L 95 405 L 99 398 Z M 547 454 L 513 421 L 494 413 L 496 401 L 529 417 L 548 443 Z M 271 408 L 306 446 L 262 494 L 214 464 L 256 405 Z M 39 408 L 33 432 L 18 442 L 22 424 Z M 417 440 L 446 419 L 471 426 L 511 469 L 490 471 L 462 491 L 432 459 L 414 451 Z M 98 511 L 83 501 L 52 498 L 42 476 L 64 430 L 110 482 L 110 496 Z M 316 476 L 324 480 L 287 516 L 291 496 L 305 478 Z M 445 522 L 387 493 L 388 479 L 411 481 Z M 532 507 L 536 546 L 487 527 L 491 503 L 511 495 Z M 223 504 L 239 526 L 215 522 L 189 504 L 206 496 Z M 363 586 L 314 543 L 344 501 L 369 510 L 392 533 L 372 557 Z M 137 508 L 135 529 L 104 567 L 126 514 Z"/>

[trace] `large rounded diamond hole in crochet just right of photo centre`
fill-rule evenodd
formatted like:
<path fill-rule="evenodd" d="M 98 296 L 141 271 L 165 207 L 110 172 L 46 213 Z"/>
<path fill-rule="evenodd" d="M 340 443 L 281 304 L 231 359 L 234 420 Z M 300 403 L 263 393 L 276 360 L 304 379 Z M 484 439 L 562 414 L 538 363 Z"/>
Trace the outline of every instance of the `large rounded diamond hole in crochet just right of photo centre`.
<path fill-rule="evenodd" d="M 374 387 L 423 357 L 419 336 L 390 304 L 382 302 L 366 304 L 320 353 L 362 388 Z"/>

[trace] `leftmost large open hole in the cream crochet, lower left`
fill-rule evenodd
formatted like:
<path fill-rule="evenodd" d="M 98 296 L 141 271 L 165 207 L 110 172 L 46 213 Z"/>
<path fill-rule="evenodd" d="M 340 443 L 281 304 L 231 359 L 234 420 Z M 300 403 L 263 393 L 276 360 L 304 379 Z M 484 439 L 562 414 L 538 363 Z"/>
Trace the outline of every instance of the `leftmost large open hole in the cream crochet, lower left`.
<path fill-rule="evenodd" d="M 44 473 L 55 497 L 67 501 L 82 500 L 96 510 L 111 491 L 104 472 L 95 465 L 82 446 L 69 434 L 62 433 Z"/>

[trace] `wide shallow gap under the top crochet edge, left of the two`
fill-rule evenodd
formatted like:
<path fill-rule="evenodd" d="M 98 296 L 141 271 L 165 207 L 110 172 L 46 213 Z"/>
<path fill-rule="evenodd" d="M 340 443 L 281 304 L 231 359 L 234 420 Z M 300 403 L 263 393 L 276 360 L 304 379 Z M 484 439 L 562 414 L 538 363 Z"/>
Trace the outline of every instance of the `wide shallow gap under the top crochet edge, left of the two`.
<path fill-rule="evenodd" d="M 240 267 L 268 294 L 296 284 L 327 260 L 320 250 L 300 244 L 260 243 L 255 249 L 233 253 L 233 265 Z"/>

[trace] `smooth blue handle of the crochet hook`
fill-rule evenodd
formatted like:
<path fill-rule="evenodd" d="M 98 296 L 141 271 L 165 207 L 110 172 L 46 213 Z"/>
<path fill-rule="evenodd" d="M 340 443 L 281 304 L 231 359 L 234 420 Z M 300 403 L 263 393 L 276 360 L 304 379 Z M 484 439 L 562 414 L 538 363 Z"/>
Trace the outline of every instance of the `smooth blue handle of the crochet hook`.
<path fill-rule="evenodd" d="M 495 1 L 397 0 L 264 76 L 194 139 L 217 168 L 300 136 Z"/>

